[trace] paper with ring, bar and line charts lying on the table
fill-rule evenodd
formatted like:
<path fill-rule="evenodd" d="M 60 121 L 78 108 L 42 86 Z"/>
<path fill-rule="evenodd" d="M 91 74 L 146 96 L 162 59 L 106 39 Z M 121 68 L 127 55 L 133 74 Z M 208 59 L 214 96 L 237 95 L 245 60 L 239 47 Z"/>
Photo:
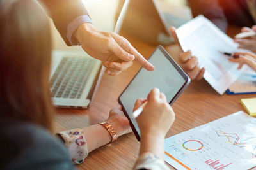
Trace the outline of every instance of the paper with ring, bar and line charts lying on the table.
<path fill-rule="evenodd" d="M 256 166 L 256 118 L 239 111 L 164 140 L 164 160 L 177 169 Z"/>

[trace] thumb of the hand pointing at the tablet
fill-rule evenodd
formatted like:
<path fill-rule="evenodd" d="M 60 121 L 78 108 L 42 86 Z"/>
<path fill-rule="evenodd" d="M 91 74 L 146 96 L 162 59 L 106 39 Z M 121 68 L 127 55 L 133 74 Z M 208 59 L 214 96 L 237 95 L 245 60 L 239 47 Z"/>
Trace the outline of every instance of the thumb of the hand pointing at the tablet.
<path fill-rule="evenodd" d="M 111 51 L 121 60 L 124 61 L 131 61 L 134 60 L 134 55 L 127 53 L 121 46 L 118 45 L 118 43 L 114 43 L 114 45 L 111 45 Z"/>

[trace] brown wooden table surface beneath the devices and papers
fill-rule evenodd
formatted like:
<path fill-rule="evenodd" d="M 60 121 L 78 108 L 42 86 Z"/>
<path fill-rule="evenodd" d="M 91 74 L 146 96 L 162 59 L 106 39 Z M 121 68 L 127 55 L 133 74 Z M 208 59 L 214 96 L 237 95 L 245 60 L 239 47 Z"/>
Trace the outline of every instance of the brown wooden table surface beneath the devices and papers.
<path fill-rule="evenodd" d="M 230 35 L 239 32 L 239 29 L 228 29 Z M 147 45 L 140 40 L 123 33 L 132 45 L 146 58 L 153 52 L 155 46 Z M 172 57 L 177 59 L 179 47 L 176 45 L 165 46 Z M 138 72 L 140 66 L 136 63 L 124 73 L 116 77 L 104 75 L 95 96 L 92 106 L 88 110 L 57 109 L 55 131 L 82 128 L 106 120 L 109 110 L 118 106 L 117 98 Z M 199 125 L 203 125 L 217 118 L 225 117 L 239 110 L 244 110 L 240 104 L 243 97 L 248 95 L 220 96 L 205 81 L 193 81 L 188 89 L 173 104 L 176 113 L 175 123 L 168 131 L 166 137 L 179 134 Z M 132 169 L 138 157 L 140 143 L 133 133 L 121 136 L 112 145 L 102 146 L 91 152 L 78 169 Z M 171 166 L 170 166 L 171 167 Z M 173 169 L 173 167 L 171 167 Z"/>

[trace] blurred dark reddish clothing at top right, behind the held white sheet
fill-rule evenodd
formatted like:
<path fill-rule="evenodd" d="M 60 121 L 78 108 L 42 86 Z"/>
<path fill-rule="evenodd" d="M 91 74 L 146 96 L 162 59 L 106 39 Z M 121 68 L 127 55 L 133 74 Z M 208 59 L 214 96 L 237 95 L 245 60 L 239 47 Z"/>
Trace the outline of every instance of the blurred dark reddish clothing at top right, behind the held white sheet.
<path fill-rule="evenodd" d="M 188 0 L 193 17 L 204 15 L 222 31 L 227 25 L 252 27 L 254 21 L 245 0 Z M 256 8 L 256 6 L 255 6 Z"/>

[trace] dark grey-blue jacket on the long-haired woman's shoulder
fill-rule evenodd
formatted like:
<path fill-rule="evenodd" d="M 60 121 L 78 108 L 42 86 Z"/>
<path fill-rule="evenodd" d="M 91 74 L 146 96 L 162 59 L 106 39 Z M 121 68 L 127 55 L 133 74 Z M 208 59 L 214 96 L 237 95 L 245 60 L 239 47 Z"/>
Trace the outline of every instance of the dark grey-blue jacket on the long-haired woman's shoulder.
<path fill-rule="evenodd" d="M 0 169 L 74 169 L 67 148 L 37 125 L 0 120 Z"/>

